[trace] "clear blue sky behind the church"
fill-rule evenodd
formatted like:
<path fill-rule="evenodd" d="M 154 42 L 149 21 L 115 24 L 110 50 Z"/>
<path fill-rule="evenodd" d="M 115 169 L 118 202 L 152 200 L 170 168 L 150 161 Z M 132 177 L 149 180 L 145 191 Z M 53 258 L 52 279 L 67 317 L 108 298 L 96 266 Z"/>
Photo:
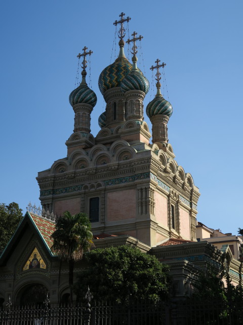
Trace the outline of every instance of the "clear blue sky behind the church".
<path fill-rule="evenodd" d="M 167 63 L 174 109 L 169 142 L 200 189 L 198 220 L 236 234 L 243 228 L 241 0 L 2 2 L 0 203 L 15 201 L 24 212 L 29 201 L 38 205 L 37 172 L 66 156 L 74 118 L 68 96 L 84 46 L 94 52 L 91 85 L 98 103 L 91 132 L 98 133 L 105 110 L 98 78 L 114 61 L 113 22 L 122 11 L 132 18 L 126 38 L 134 30 L 144 37 L 140 53 L 150 82 L 145 106 L 154 95 L 149 67 L 156 58 Z"/>

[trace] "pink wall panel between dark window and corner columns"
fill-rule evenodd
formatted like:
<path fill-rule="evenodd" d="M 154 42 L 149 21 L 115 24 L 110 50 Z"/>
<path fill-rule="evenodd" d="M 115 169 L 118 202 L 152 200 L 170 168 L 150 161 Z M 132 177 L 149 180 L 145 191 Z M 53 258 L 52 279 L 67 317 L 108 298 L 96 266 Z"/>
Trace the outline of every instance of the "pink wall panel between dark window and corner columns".
<path fill-rule="evenodd" d="M 136 217 L 136 190 L 126 189 L 107 194 L 107 220 L 116 221 Z"/>

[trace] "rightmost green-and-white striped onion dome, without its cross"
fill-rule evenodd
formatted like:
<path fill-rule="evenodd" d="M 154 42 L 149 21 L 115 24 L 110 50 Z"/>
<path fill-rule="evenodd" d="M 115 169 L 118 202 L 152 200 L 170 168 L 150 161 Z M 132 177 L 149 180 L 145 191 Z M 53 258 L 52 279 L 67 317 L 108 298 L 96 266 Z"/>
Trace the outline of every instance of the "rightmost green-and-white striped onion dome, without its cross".
<path fill-rule="evenodd" d="M 154 99 L 148 103 L 146 107 L 146 114 L 148 117 L 152 117 L 153 115 L 163 114 L 171 117 L 173 108 L 171 103 L 166 101 L 164 97 L 160 93 L 160 83 L 156 83 L 157 94 Z"/>

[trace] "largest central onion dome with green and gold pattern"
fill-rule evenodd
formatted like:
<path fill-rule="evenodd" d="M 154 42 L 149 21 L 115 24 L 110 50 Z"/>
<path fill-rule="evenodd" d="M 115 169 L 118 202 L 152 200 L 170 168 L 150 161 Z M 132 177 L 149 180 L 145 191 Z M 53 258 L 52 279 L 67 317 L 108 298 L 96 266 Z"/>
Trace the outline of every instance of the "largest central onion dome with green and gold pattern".
<path fill-rule="evenodd" d="M 119 87 L 121 80 L 130 73 L 133 66 L 126 58 L 117 58 L 100 74 L 98 85 L 102 95 L 106 90 Z"/>

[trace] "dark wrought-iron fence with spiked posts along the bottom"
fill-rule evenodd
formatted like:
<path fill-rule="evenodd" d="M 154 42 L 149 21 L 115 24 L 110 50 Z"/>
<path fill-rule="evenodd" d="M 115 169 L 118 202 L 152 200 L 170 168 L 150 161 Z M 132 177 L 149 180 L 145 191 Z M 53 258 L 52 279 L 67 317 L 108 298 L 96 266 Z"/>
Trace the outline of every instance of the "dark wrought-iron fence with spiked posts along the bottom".
<path fill-rule="evenodd" d="M 79 306 L 12 306 L 0 310 L 1 325 L 243 325 L 243 302 L 96 303 L 91 295 Z"/>

